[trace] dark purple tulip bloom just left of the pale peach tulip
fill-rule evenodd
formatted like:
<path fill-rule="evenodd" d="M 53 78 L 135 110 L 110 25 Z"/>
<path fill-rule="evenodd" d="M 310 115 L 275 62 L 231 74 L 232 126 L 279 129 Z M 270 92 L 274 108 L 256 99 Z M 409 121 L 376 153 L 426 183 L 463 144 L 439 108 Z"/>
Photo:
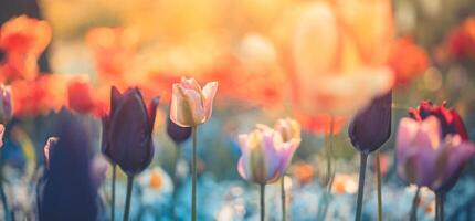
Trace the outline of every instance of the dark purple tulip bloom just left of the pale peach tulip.
<path fill-rule="evenodd" d="M 103 151 L 128 176 L 147 168 L 154 157 L 154 129 L 158 97 L 147 109 L 138 88 L 110 92 L 110 113 L 103 117 Z"/>

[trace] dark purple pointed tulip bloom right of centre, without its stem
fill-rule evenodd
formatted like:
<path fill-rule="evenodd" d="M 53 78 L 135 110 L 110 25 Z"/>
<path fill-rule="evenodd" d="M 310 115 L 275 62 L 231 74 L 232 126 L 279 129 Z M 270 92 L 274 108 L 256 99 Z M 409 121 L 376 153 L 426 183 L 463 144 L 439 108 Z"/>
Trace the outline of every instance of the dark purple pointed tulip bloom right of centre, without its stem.
<path fill-rule="evenodd" d="M 392 92 L 374 98 L 359 112 L 350 123 L 348 136 L 351 144 L 362 154 L 370 154 L 381 147 L 391 136 Z"/>

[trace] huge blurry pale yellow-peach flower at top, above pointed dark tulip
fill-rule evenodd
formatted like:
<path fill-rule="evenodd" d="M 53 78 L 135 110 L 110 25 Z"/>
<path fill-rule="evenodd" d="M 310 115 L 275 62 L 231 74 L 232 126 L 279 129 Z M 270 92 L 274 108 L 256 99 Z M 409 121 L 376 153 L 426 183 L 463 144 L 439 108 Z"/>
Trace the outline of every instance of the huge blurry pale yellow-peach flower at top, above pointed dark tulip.
<path fill-rule="evenodd" d="M 295 102 L 317 115 L 350 116 L 388 92 L 391 1 L 318 1 L 298 19 L 293 38 Z"/>

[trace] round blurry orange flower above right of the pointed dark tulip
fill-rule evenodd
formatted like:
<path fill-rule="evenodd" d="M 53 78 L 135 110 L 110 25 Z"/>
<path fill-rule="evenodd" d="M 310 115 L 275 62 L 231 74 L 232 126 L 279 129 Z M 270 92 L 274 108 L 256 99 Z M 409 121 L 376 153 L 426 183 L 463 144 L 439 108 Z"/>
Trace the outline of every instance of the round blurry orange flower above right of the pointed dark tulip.
<path fill-rule="evenodd" d="M 424 49 L 416 45 L 410 36 L 397 40 L 388 57 L 388 65 L 394 71 L 395 86 L 405 85 L 422 74 L 429 67 L 429 62 Z"/>

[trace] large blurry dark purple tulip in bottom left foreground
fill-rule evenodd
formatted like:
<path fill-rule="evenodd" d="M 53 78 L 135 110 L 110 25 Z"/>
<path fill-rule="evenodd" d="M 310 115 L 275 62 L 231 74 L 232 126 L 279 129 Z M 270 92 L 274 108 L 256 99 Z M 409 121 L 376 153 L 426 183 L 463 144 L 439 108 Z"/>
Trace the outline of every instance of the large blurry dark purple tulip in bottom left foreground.
<path fill-rule="evenodd" d="M 49 169 L 39 183 L 39 220 L 98 220 L 87 133 L 65 112 L 60 115 L 57 131 L 59 140 L 50 147 Z"/>

